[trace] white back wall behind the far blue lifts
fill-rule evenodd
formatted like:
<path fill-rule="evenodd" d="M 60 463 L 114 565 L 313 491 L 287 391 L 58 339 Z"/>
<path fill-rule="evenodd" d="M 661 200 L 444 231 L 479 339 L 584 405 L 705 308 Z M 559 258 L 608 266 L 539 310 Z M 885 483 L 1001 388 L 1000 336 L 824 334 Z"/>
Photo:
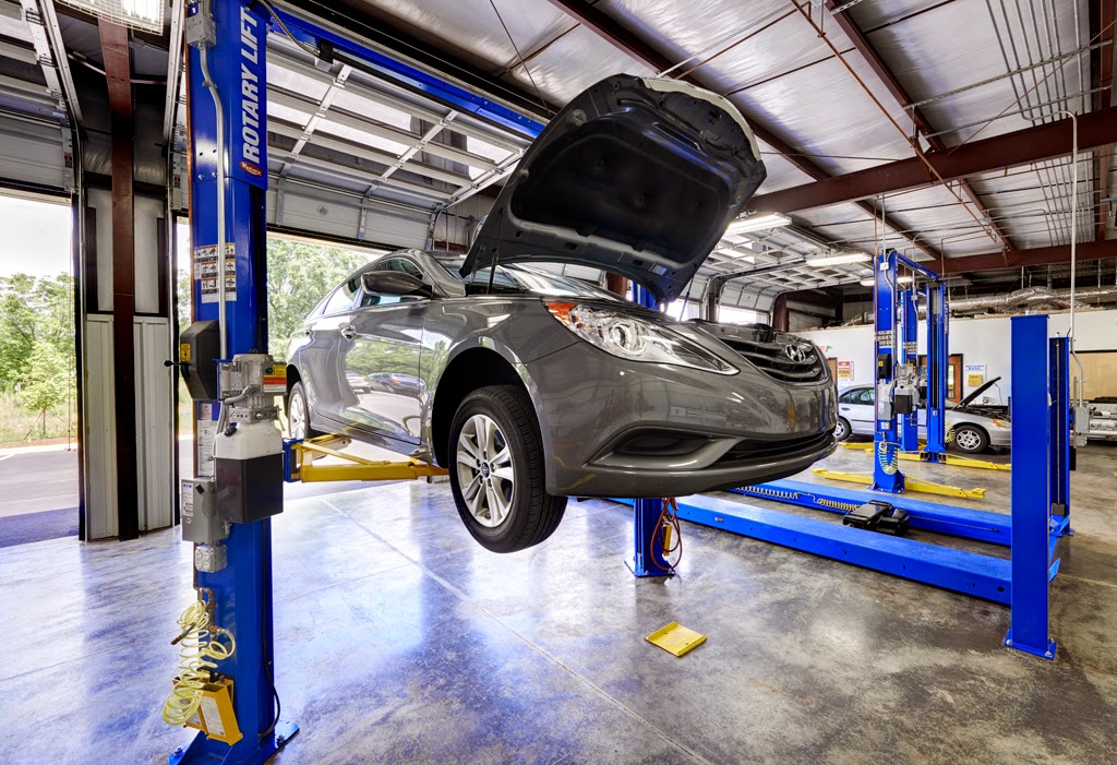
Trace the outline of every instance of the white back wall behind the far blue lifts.
<path fill-rule="evenodd" d="M 1001 376 L 997 385 L 984 395 L 991 403 L 1008 403 L 1012 382 L 1012 357 L 1010 353 L 1012 319 L 1001 318 L 952 318 L 947 344 L 951 353 L 961 353 L 963 364 L 985 364 L 985 380 Z M 926 324 L 919 327 L 919 353 L 927 351 Z M 1048 332 L 1056 337 L 1066 335 L 1070 328 L 1070 314 L 1049 316 Z M 850 384 L 872 384 L 875 360 L 872 356 L 872 326 L 815 329 L 800 333 L 817 343 L 828 357 L 853 362 L 853 381 L 839 382 L 839 386 Z M 1078 312 L 1075 317 L 1076 351 L 1117 351 L 1117 310 Z M 963 395 L 974 390 L 965 385 Z"/>

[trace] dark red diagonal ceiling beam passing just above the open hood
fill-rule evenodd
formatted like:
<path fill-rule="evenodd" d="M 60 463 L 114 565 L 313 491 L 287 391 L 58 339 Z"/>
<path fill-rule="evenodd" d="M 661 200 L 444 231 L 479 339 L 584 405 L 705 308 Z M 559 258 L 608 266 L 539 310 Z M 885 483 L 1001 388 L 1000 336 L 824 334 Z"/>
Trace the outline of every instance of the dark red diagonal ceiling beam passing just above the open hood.
<path fill-rule="evenodd" d="M 586 29 L 595 32 L 603 40 L 618 48 L 622 52 L 628 54 L 638 61 L 643 63 L 646 66 L 655 71 L 666 71 L 674 66 L 674 63 L 669 60 L 666 56 L 660 54 L 658 50 L 653 49 L 645 40 L 640 39 L 627 27 L 622 26 L 619 21 L 608 16 L 604 11 L 600 10 L 596 6 L 591 6 L 584 0 L 548 0 L 552 6 L 555 6 L 563 10 L 571 18 L 576 19 Z M 680 79 L 688 82 L 698 87 L 705 87 L 700 82 L 690 76 L 681 77 Z M 739 106 L 738 106 L 739 108 Z M 803 153 L 796 150 L 794 146 L 789 144 L 784 138 L 777 135 L 768 125 L 763 121 L 757 119 L 753 114 L 745 114 L 745 119 L 748 126 L 752 127 L 753 134 L 767 145 L 772 146 L 780 155 L 785 160 L 791 162 L 795 168 L 798 168 L 803 173 L 806 173 L 810 178 L 815 181 L 824 181 L 830 178 L 828 173 L 821 165 L 815 164 Z M 881 218 L 880 211 L 870 202 L 866 201 L 853 201 L 853 203 L 865 211 L 871 218 Z M 752 204 L 750 205 L 752 207 Z M 932 258 L 939 258 L 939 254 L 933 249 L 929 245 L 919 243 L 915 241 L 915 237 L 910 233 L 906 233 L 907 226 L 895 220 L 890 216 L 884 216 L 884 223 L 888 228 L 895 230 L 904 239 L 907 239 L 913 245 L 922 249 Z"/>

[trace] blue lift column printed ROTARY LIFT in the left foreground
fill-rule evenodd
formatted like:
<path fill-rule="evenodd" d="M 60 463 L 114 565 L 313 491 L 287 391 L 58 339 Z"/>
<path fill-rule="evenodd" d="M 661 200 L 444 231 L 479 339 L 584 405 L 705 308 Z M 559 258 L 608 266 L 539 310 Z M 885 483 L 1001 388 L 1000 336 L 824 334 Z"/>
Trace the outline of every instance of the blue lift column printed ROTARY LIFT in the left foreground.
<path fill-rule="evenodd" d="M 266 219 L 267 117 L 266 38 L 268 15 L 256 2 L 213 0 L 188 7 L 188 103 L 191 160 L 191 242 L 194 319 L 220 317 L 218 279 L 226 281 L 226 361 L 237 354 L 267 353 Z M 220 117 L 201 69 L 200 48 L 207 48 L 211 86 L 220 99 Z M 220 128 L 219 128 L 220 125 Z M 219 151 L 219 147 L 221 151 Z M 223 173 L 218 157 L 223 156 Z M 218 226 L 218 179 L 223 175 L 225 231 Z M 219 275 L 217 246 L 225 243 L 226 269 Z M 185 361 L 185 360 L 183 360 Z M 213 433 L 221 404 L 197 402 L 199 441 Z M 242 431 L 246 430 L 242 428 Z M 276 431 L 278 438 L 278 431 Z M 199 449 L 199 472 L 212 466 L 210 453 Z M 281 449 L 281 441 L 280 441 Z M 221 476 L 218 470 L 218 493 Z M 212 476 L 212 472 L 210 472 Z M 281 469 L 276 487 L 265 487 L 274 504 L 281 503 Z M 281 507 L 281 505 L 280 505 Z M 247 517 L 257 517 L 251 500 L 242 505 Z M 201 551 L 206 555 L 200 557 Z M 244 765 L 268 759 L 298 730 L 276 719 L 277 694 L 273 643 L 271 522 L 262 517 L 229 524 L 229 535 L 216 545 L 195 546 L 195 585 L 212 592 L 213 622 L 236 638 L 236 651 L 218 671 L 232 679 L 233 709 L 241 738 L 232 745 L 199 733 L 189 747 L 170 762 Z"/>

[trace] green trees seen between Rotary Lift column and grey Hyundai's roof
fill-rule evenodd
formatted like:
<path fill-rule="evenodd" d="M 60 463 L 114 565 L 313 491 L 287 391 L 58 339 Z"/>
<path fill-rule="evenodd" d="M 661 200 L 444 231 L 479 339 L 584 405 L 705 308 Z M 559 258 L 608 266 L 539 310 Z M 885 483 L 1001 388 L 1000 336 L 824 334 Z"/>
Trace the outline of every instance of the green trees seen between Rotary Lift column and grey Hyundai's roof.
<path fill-rule="evenodd" d="M 318 300 L 370 260 L 365 252 L 268 239 L 268 351 L 286 360 L 287 338 Z"/>

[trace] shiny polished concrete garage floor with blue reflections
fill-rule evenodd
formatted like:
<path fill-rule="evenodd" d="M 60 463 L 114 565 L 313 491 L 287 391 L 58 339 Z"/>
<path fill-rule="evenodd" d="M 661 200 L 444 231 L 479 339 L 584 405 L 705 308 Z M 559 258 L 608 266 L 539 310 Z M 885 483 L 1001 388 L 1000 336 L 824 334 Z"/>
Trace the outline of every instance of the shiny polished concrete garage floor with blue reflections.
<path fill-rule="evenodd" d="M 679 576 L 634 581 L 608 503 L 498 556 L 445 484 L 289 500 L 277 683 L 303 729 L 277 762 L 1117 762 L 1117 449 L 1079 465 L 1054 662 L 1001 647 L 1005 608 L 703 527 Z M 1010 474 L 909 467 L 1006 508 Z M 160 719 L 192 599 L 175 532 L 0 549 L 0 762 L 160 763 L 189 740 Z M 708 642 L 645 642 L 672 620 Z"/>

